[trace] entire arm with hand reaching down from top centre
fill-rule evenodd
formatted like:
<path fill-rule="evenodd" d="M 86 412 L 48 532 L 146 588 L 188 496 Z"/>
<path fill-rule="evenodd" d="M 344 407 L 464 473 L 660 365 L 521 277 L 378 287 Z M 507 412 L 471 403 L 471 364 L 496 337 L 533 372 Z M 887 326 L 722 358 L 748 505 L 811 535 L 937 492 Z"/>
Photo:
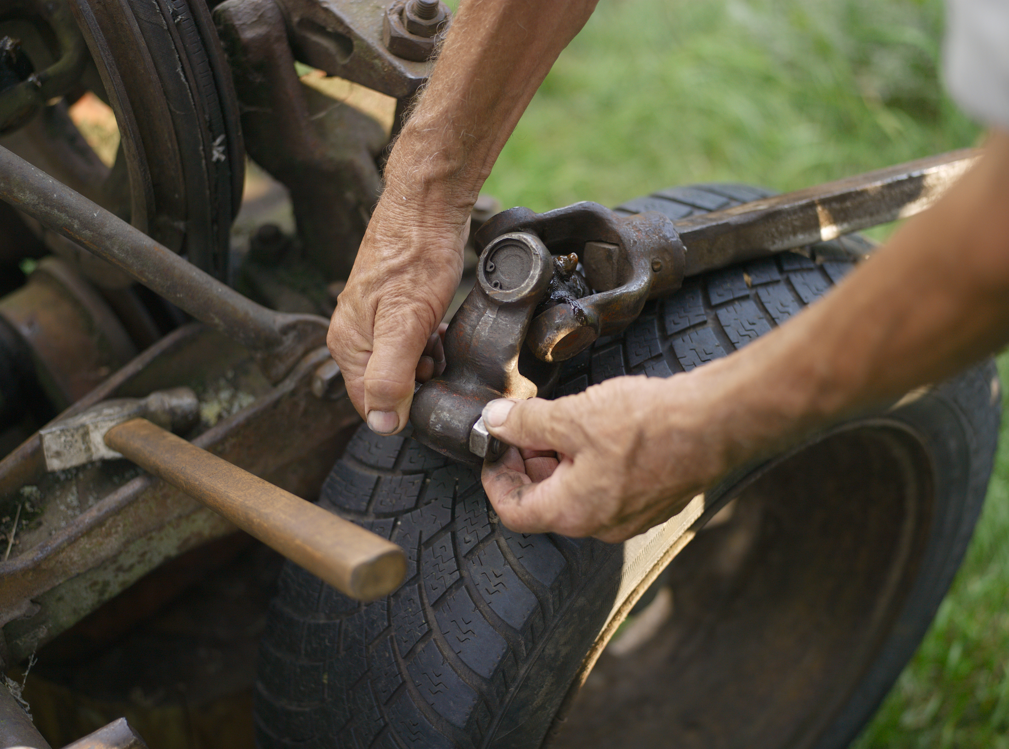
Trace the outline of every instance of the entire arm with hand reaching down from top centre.
<path fill-rule="evenodd" d="M 403 429 L 415 380 L 438 373 L 433 334 L 459 284 L 470 209 L 526 106 L 594 5 L 460 3 L 389 154 L 385 188 L 330 322 L 329 349 L 374 431 Z"/>

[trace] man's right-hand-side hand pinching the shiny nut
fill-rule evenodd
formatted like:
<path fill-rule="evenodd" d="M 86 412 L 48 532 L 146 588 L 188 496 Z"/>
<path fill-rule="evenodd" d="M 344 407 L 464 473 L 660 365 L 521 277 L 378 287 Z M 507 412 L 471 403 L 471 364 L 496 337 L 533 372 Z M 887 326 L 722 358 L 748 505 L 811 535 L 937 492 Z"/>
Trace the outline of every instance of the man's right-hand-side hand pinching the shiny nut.
<path fill-rule="evenodd" d="M 625 377 L 556 401 L 487 404 L 489 431 L 523 447 L 483 467 L 501 522 L 614 543 L 672 517 L 732 459 L 717 380 Z"/>

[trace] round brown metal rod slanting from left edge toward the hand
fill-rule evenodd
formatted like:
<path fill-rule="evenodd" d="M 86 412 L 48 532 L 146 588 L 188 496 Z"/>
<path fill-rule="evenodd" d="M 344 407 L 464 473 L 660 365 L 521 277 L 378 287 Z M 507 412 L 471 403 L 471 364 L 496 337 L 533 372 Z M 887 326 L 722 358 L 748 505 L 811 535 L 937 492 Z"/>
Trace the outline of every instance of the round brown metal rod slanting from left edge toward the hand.
<path fill-rule="evenodd" d="M 2 146 L 0 199 L 259 354 L 272 382 L 325 343 L 324 318 L 256 304 Z"/>

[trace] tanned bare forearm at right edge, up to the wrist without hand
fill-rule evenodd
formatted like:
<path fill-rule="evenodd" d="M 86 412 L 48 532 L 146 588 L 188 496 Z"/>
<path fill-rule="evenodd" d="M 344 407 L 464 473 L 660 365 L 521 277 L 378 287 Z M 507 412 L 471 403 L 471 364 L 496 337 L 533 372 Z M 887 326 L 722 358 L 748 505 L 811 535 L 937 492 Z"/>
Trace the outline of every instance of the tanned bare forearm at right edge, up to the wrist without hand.
<path fill-rule="evenodd" d="M 739 457 L 940 381 L 1009 340 L 1009 135 L 831 294 L 719 362 Z"/>

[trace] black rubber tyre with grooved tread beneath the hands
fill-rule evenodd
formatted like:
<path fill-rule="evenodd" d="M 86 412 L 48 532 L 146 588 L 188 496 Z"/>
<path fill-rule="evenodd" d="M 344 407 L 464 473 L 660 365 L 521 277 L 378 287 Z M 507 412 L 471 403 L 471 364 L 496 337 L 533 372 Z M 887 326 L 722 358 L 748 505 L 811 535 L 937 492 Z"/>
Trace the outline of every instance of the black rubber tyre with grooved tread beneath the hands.
<path fill-rule="evenodd" d="M 699 186 L 623 208 L 680 218 L 765 194 Z M 817 261 L 786 253 L 689 280 L 623 335 L 568 362 L 556 395 L 625 373 L 668 377 L 723 356 L 817 299 L 866 248 L 849 238 L 817 245 Z M 917 647 L 960 565 L 992 468 L 997 383 L 986 362 L 885 417 L 923 435 L 937 489 L 907 584 L 843 693 L 817 701 L 819 713 L 800 716 L 804 728 L 787 740 L 746 728 L 710 744 L 670 734 L 669 745 L 847 746 Z M 363 426 L 320 504 L 403 545 L 407 581 L 361 605 L 285 566 L 260 646 L 258 746 L 540 746 L 618 597 L 629 595 L 618 587 L 622 570 L 627 576 L 634 566 L 625 558 L 631 545 L 513 533 L 488 508 L 478 471 Z M 639 564 L 631 595 L 658 574 L 658 556 Z M 747 677 L 725 673 L 730 682 Z M 609 745 L 631 745 L 616 735 Z"/>

